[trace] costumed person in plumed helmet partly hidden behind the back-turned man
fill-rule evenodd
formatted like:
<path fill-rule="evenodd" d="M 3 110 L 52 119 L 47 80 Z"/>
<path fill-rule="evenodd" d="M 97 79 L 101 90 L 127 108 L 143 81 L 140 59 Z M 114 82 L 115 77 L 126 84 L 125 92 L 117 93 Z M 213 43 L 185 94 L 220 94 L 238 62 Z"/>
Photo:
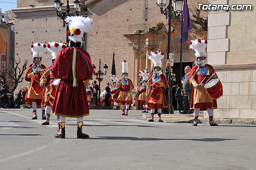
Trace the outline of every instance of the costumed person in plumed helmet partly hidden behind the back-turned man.
<path fill-rule="evenodd" d="M 52 64 L 54 63 L 57 54 L 62 50 L 63 48 L 66 48 L 66 46 L 62 43 L 58 42 L 49 42 L 47 44 L 47 50 L 52 53 Z M 52 104 L 54 101 L 54 96 L 56 89 L 52 86 L 52 82 L 54 82 L 54 77 L 52 75 L 52 66 L 48 67 L 44 73 L 42 74 L 40 78 L 40 84 L 41 87 L 45 88 L 45 93 L 42 99 L 42 106 L 45 108 L 45 115 L 46 115 L 46 121 L 42 123 L 42 125 L 48 125 L 50 124 L 50 116 L 52 111 Z M 59 122 L 59 117 L 57 117 Z"/>

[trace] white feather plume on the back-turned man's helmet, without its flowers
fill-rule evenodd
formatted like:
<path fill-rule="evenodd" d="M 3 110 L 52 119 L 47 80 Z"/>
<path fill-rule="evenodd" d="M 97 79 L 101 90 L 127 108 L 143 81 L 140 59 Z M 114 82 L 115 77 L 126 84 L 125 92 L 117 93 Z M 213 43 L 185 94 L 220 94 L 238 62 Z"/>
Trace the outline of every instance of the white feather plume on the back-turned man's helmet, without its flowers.
<path fill-rule="evenodd" d="M 80 35 L 74 34 L 73 36 L 69 36 L 69 39 L 71 39 L 74 42 L 82 42 L 82 37 L 84 35 L 84 32 L 89 32 L 92 30 L 92 19 L 89 17 L 85 18 L 82 16 L 68 16 L 66 18 L 66 23 L 68 23 L 68 27 L 71 28 L 79 28 L 81 33 Z"/>

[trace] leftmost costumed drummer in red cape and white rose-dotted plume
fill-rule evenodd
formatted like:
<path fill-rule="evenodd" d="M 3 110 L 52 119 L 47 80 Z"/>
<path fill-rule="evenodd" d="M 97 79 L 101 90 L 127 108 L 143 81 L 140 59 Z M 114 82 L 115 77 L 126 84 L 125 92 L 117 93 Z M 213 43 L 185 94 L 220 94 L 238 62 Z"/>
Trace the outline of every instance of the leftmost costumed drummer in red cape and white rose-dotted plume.
<path fill-rule="evenodd" d="M 28 70 L 25 73 L 25 80 L 30 82 L 28 86 L 28 94 L 26 96 L 26 104 L 30 104 L 33 107 L 33 118 L 37 119 L 36 106 L 41 106 L 42 119 L 46 120 L 45 108 L 42 107 L 42 98 L 44 96 L 44 88 L 40 87 L 40 78 L 46 67 L 41 64 L 42 54 L 46 50 L 46 45 L 41 43 L 35 43 L 31 45 L 33 52 L 33 63 L 28 66 Z M 40 58 L 40 61 L 36 61 L 36 58 Z"/>

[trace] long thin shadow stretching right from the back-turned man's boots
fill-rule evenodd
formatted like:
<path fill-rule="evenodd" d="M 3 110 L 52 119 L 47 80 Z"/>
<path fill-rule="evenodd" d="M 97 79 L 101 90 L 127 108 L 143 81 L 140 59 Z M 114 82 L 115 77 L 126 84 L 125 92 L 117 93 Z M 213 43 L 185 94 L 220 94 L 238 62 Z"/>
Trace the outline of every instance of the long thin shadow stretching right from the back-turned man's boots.
<path fill-rule="evenodd" d="M 236 140 L 236 139 L 225 139 L 225 138 L 200 138 L 200 139 L 166 139 L 166 138 L 136 138 L 129 136 L 98 136 L 98 138 L 90 139 L 105 139 L 105 140 L 192 140 L 192 141 L 202 141 L 202 142 L 221 142 L 225 140 Z"/>

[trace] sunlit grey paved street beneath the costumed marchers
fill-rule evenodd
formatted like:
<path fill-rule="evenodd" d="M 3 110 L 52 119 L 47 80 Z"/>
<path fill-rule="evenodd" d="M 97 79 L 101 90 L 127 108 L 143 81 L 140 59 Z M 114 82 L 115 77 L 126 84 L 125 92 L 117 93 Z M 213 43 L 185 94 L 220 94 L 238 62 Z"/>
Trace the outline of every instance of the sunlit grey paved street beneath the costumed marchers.
<path fill-rule="evenodd" d="M 31 120 L 32 109 L 0 109 L 0 170 L 255 170 L 256 126 L 147 122 L 141 111 L 90 110 L 76 138 L 66 119 L 66 139 Z M 156 116 L 157 118 L 157 116 Z"/>

